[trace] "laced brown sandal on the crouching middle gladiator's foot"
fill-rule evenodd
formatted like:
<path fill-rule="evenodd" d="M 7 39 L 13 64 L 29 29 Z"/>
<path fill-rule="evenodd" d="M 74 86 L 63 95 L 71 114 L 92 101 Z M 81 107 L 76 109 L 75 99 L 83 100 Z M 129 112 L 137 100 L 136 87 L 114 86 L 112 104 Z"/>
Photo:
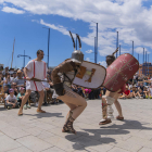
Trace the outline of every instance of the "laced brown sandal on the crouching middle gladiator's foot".
<path fill-rule="evenodd" d="M 69 111 L 69 116 L 63 126 L 62 132 L 72 132 L 76 135 L 76 130 L 73 128 L 74 118 L 72 117 L 73 112 Z"/>

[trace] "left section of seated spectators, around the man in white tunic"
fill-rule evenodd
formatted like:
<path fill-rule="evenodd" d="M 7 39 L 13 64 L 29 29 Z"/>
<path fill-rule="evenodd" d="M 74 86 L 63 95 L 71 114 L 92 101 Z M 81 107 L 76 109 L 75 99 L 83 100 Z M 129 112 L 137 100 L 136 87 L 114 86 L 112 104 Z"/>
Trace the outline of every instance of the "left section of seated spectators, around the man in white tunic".
<path fill-rule="evenodd" d="M 47 81 L 43 81 L 45 87 L 45 100 L 43 105 L 48 104 L 49 101 L 53 104 L 52 100 L 53 88 L 51 83 L 51 75 L 48 71 Z M 9 69 L 5 67 L 3 71 L 0 71 L 0 102 L 4 102 L 7 109 L 20 107 L 22 99 L 25 96 L 26 91 L 26 80 L 24 79 L 24 71 L 22 69 Z M 39 94 L 37 91 L 31 91 L 30 97 L 24 109 L 30 109 L 30 103 L 34 103 L 35 106 L 38 106 Z"/>

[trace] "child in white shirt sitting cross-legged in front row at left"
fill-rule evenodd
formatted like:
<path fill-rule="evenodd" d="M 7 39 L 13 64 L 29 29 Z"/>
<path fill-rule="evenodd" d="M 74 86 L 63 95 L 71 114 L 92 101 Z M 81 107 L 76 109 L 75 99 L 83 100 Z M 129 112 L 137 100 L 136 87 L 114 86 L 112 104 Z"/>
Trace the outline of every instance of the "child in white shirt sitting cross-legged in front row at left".
<path fill-rule="evenodd" d="M 18 107 L 20 103 L 17 103 L 17 99 L 14 96 L 14 90 L 11 88 L 9 90 L 9 96 L 5 98 L 5 106 L 8 110 L 12 109 L 12 107 Z"/>

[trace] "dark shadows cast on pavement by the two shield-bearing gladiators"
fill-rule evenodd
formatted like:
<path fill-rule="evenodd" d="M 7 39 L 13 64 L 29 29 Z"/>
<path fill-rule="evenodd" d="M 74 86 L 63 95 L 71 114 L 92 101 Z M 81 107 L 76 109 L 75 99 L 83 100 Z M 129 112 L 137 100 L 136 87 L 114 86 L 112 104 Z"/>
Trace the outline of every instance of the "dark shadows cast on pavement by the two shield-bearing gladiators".
<path fill-rule="evenodd" d="M 142 126 L 147 124 L 149 123 L 141 124 L 138 121 L 125 119 L 123 125 L 112 124 L 111 126 L 110 125 L 101 126 L 100 129 L 84 129 L 83 128 L 81 130 L 84 131 L 77 131 L 77 135 L 80 135 L 79 137 L 72 139 L 71 136 L 75 136 L 75 135 L 67 135 L 65 138 L 74 142 L 73 148 L 75 150 L 77 150 L 78 144 L 83 145 L 80 150 L 86 150 L 85 148 L 91 147 L 91 145 L 94 147 L 98 144 L 105 144 L 105 143 L 107 144 L 112 142 L 115 143 L 116 142 L 115 139 L 105 137 L 109 135 L 124 135 L 125 136 L 125 135 L 130 134 L 129 129 L 152 130 L 151 127 Z"/>

